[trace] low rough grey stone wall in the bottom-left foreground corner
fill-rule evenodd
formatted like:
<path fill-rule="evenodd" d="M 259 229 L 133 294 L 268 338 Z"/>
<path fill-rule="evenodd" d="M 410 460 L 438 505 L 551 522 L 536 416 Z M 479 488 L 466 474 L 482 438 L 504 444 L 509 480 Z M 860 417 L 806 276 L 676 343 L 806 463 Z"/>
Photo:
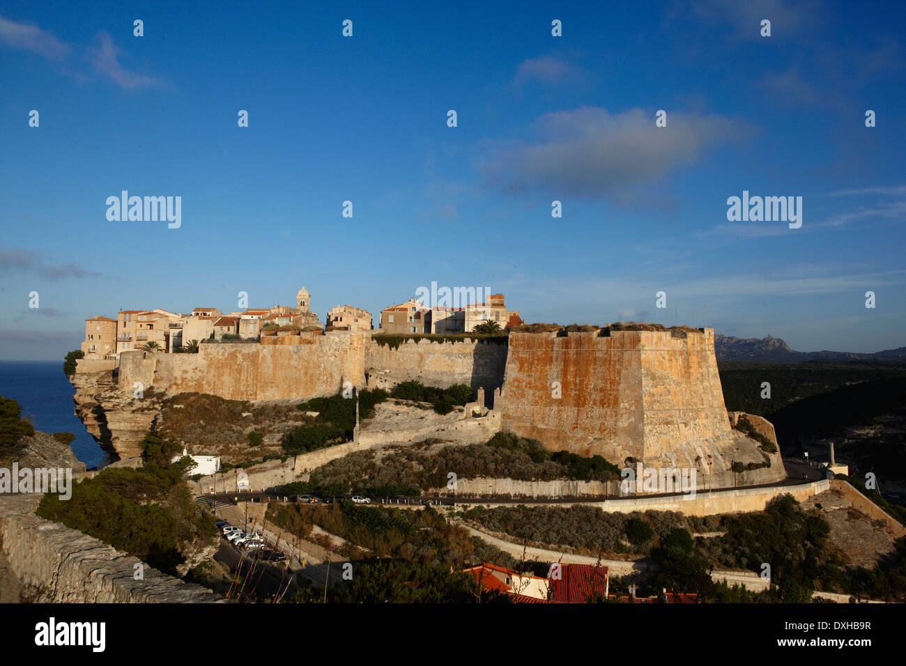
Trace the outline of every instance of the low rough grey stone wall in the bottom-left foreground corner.
<path fill-rule="evenodd" d="M 34 515 L 42 496 L 0 496 L 0 542 L 23 594 L 43 603 L 223 603 L 197 584 L 144 566 L 140 560 L 61 523 Z"/>

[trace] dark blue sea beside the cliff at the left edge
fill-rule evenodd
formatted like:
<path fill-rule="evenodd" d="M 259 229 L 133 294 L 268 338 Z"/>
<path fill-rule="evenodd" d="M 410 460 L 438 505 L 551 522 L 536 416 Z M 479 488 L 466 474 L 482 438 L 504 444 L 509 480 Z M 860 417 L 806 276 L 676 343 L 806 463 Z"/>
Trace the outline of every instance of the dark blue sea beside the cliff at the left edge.
<path fill-rule="evenodd" d="M 63 361 L 0 361 L 0 396 L 14 398 L 22 415 L 33 415 L 35 430 L 72 432 L 70 446 L 88 468 L 101 462 L 104 452 L 73 412 L 75 389 L 63 374 Z"/>

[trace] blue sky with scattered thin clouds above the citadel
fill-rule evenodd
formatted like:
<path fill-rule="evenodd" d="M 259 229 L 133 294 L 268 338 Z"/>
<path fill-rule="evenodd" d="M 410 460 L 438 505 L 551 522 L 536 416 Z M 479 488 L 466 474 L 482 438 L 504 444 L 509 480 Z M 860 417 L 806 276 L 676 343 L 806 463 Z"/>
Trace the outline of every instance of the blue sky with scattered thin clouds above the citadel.
<path fill-rule="evenodd" d="M 305 285 L 323 320 L 432 281 L 528 322 L 906 345 L 901 3 L 75 5 L 0 2 L 2 358 L 120 308 Z M 123 189 L 181 227 L 108 221 Z M 744 189 L 803 226 L 728 222 Z"/>

